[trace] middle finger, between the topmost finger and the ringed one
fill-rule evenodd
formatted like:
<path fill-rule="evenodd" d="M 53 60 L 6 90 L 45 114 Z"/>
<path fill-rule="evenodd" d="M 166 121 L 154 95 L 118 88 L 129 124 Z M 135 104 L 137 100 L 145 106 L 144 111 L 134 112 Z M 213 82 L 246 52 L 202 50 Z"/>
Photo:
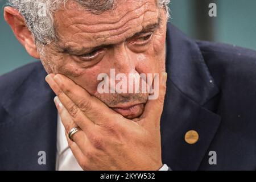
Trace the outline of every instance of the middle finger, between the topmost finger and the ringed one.
<path fill-rule="evenodd" d="M 61 105 L 68 110 L 68 113 L 71 115 L 72 120 L 82 129 L 85 133 L 88 133 L 93 130 L 94 123 L 90 121 L 84 114 L 81 113 L 80 109 L 75 105 L 71 99 L 66 96 L 56 82 L 53 80 L 53 74 L 50 74 L 46 77 L 46 81 L 49 86 L 51 86 L 53 92 L 58 96 L 55 98 L 55 101 L 59 101 Z M 59 104 L 57 103 L 57 104 Z"/>

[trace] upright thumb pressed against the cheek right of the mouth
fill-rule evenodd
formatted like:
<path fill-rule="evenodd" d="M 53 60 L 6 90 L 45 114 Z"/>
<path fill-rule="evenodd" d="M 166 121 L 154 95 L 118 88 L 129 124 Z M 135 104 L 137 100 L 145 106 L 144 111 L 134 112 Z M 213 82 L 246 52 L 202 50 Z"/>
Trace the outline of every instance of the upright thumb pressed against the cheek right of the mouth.
<path fill-rule="evenodd" d="M 160 118 L 163 111 L 164 105 L 164 96 L 166 94 L 166 80 L 167 73 L 163 72 L 159 76 L 159 92 L 158 98 L 155 100 L 148 100 L 145 106 L 144 112 L 141 116 L 142 121 L 140 122 L 142 125 L 148 126 L 158 126 L 160 122 Z"/>

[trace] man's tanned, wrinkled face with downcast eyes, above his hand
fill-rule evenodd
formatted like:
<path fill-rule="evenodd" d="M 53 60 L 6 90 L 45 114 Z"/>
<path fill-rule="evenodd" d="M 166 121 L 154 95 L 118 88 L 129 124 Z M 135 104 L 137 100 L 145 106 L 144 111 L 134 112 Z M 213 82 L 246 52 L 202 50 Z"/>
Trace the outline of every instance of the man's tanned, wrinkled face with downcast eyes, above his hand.
<path fill-rule="evenodd" d="M 162 73 L 166 21 L 155 0 L 118 1 L 113 10 L 98 15 L 68 1 L 55 13 L 59 40 L 45 47 L 43 65 L 48 73 L 71 78 L 124 117 L 139 117 L 148 93 L 98 93 L 97 77 L 100 73 L 110 77 L 110 69 L 127 78 L 129 73 Z"/>

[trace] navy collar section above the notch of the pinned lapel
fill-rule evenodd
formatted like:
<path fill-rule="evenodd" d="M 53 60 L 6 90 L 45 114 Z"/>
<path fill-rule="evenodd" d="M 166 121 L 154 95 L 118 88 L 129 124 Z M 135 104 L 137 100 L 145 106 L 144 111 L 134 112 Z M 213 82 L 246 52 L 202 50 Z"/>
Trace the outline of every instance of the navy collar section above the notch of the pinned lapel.
<path fill-rule="evenodd" d="M 218 93 L 197 44 L 171 24 L 167 25 L 166 69 L 169 78 L 191 100 L 205 104 Z"/>

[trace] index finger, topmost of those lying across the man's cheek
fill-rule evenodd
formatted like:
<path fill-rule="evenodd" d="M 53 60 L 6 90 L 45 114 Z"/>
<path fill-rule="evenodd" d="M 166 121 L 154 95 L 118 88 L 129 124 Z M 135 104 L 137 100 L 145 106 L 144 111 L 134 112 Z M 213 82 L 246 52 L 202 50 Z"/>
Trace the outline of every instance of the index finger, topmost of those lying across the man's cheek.
<path fill-rule="evenodd" d="M 72 80 L 64 75 L 55 75 L 55 82 L 79 109 L 94 123 L 101 125 L 101 122 L 115 121 L 113 119 L 117 113 L 98 100 L 81 86 L 75 84 Z M 110 119 L 111 118 L 111 119 Z"/>

